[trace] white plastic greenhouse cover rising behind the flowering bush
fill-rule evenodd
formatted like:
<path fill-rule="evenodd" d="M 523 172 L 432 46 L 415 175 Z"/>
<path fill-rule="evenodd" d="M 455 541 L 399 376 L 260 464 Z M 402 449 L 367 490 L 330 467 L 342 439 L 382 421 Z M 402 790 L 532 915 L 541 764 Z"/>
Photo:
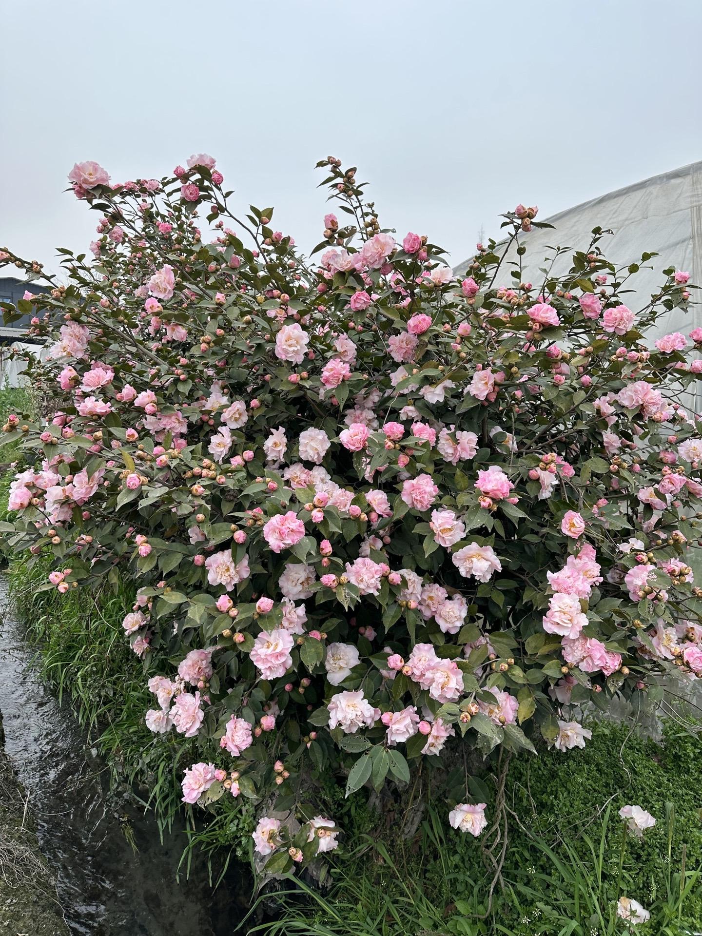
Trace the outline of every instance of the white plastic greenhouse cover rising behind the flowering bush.
<path fill-rule="evenodd" d="M 646 264 L 652 270 L 642 268 L 632 277 L 636 293 L 622 296 L 622 301 L 634 312 L 643 308 L 664 283 L 661 271 L 667 267 L 688 271 L 691 283 L 699 284 L 702 280 L 702 162 L 592 198 L 546 220 L 555 230 L 534 227 L 519 235 L 519 243 L 527 248 L 523 256 L 524 279 L 534 285 L 543 276 L 538 268 L 548 265 L 544 259 L 552 256 L 549 246 L 584 250 L 590 243 L 593 227 L 613 231 L 603 237 L 599 246 L 617 267 L 639 262 L 645 252 L 658 254 Z M 553 268 L 555 274 L 569 269 L 570 256 L 559 257 Z M 503 264 L 504 276 L 500 271 L 501 285 L 511 284 L 509 271 L 515 268 L 507 261 L 517 258 L 513 246 Z M 462 273 L 466 265 L 464 261 L 456 271 Z M 700 302 L 695 293 L 692 299 Z M 651 329 L 651 341 L 670 331 L 681 331 L 687 336 L 698 326 L 702 326 L 702 305 L 691 301 L 687 311 L 674 309 L 662 315 L 656 328 Z"/>

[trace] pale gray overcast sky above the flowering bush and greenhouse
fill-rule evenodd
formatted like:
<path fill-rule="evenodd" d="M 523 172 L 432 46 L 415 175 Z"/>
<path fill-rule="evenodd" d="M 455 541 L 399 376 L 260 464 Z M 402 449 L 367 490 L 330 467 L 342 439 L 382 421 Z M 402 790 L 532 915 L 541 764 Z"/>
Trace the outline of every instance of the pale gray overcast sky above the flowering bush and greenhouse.
<path fill-rule="evenodd" d="M 209 153 L 235 203 L 320 240 L 317 159 L 358 166 L 381 224 L 458 263 L 540 217 L 702 158 L 700 0 L 1 0 L 0 245 L 57 269 L 113 182 Z"/>

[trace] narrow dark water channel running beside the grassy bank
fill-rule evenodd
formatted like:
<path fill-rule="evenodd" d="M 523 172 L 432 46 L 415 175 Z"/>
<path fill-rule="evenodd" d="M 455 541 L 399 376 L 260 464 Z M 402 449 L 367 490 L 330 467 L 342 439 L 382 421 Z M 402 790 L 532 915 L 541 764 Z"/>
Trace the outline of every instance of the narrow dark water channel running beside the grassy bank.
<path fill-rule="evenodd" d="M 229 936 L 243 916 L 231 883 L 176 871 L 182 831 L 161 843 L 151 816 L 117 803 L 70 709 L 37 677 L 0 574 L 0 710 L 6 751 L 29 795 L 42 851 L 76 936 Z M 135 851 L 124 836 L 124 817 Z M 247 886 L 241 882 L 241 889 Z M 234 882 L 236 887 L 236 881 Z"/>

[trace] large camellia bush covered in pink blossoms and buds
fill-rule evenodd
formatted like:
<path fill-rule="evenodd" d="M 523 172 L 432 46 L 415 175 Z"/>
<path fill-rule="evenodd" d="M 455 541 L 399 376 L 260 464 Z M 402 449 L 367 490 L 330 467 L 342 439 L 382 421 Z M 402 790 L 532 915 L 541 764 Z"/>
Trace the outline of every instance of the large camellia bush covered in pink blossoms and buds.
<path fill-rule="evenodd" d="M 595 228 L 525 282 L 519 205 L 456 277 L 380 227 L 355 169 L 319 167 L 340 217 L 306 258 L 272 209 L 233 212 L 211 156 L 124 184 L 80 163 L 93 257 L 3 303 L 49 343 L 52 401 L 4 427 L 30 465 L 6 541 L 59 592 L 135 581 L 146 724 L 200 753 L 183 800 L 255 800 L 279 872 L 336 847 L 321 775 L 348 795 L 461 748 L 583 747 L 574 707 L 702 673 L 702 329 L 647 341 L 688 274 L 631 310 L 652 255 L 618 268 Z M 446 819 L 478 835 L 463 784 Z"/>

